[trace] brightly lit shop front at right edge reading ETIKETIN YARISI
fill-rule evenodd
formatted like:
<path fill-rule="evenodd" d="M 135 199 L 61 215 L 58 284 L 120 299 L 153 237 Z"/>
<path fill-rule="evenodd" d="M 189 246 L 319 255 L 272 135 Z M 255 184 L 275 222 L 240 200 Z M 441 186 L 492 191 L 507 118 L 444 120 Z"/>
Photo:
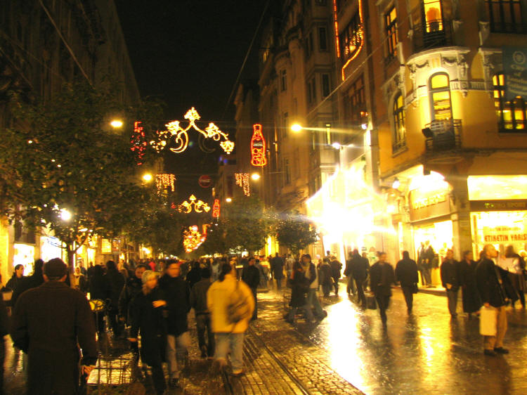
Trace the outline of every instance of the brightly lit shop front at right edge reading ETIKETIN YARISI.
<path fill-rule="evenodd" d="M 527 250 L 527 176 L 469 176 L 474 257 L 483 245 Z"/>

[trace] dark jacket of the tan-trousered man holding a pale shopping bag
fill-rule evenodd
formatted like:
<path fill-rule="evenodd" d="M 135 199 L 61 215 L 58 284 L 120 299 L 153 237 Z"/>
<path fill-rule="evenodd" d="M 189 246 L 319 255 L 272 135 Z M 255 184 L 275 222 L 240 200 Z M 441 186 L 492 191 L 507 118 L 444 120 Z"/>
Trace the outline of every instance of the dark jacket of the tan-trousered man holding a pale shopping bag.
<path fill-rule="evenodd" d="M 482 304 L 488 303 L 490 306 L 500 307 L 505 306 L 505 299 L 518 300 L 507 273 L 488 258 L 479 261 L 476 267 L 476 284 Z"/>

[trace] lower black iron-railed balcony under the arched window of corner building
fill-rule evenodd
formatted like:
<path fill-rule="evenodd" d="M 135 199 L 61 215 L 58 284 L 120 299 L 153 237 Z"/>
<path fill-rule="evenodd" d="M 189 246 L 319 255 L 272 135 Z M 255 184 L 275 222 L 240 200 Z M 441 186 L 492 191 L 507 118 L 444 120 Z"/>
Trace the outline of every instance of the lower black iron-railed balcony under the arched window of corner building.
<path fill-rule="evenodd" d="M 432 121 L 422 130 L 426 153 L 444 153 L 461 148 L 461 119 Z"/>

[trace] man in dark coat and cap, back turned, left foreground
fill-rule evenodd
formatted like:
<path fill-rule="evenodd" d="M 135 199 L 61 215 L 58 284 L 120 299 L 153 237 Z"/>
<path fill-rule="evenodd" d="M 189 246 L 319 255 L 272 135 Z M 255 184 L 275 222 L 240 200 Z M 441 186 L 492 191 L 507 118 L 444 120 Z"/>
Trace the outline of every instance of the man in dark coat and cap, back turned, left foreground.
<path fill-rule="evenodd" d="M 66 276 L 64 262 L 51 259 L 44 266 L 45 283 L 20 295 L 15 306 L 11 338 L 28 355 L 28 394 L 78 394 L 79 347 L 83 374 L 97 361 L 89 303 L 67 287 Z"/>

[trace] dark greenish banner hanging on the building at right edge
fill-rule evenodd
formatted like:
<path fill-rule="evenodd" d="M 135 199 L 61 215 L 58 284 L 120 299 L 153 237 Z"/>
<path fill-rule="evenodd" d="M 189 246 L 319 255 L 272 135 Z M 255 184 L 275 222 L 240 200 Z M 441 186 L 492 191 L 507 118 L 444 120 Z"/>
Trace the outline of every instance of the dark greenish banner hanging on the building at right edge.
<path fill-rule="evenodd" d="M 505 74 L 505 99 L 516 96 L 527 99 L 527 47 L 503 47 L 503 73 Z"/>

